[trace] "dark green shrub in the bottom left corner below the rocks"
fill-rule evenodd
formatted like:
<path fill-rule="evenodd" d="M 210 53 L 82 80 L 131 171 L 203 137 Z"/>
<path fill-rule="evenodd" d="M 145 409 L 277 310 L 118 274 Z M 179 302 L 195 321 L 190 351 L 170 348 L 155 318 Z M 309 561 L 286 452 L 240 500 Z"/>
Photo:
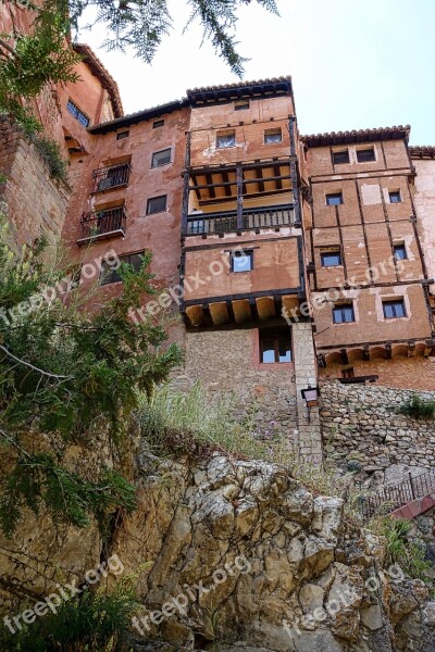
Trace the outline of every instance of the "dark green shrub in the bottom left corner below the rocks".
<path fill-rule="evenodd" d="M 12 634 L 0 626 L 0 649 L 8 652 L 121 652 L 138 607 L 136 578 L 120 579 L 110 593 L 85 590 L 53 614 L 38 617 Z"/>

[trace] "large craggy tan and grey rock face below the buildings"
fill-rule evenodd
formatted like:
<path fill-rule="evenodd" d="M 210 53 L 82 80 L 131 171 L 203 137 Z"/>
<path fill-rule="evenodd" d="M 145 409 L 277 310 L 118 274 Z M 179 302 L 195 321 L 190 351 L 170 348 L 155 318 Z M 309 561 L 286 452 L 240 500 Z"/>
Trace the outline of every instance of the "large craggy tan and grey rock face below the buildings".
<path fill-rule="evenodd" d="M 140 506 L 110 551 L 125 573 L 139 573 L 135 650 L 435 652 L 426 588 L 383 570 L 373 535 L 345 534 L 340 499 L 313 497 L 283 467 L 220 454 L 192 466 L 144 452 L 138 466 Z M 48 566 L 98 566 L 97 531 L 70 532 L 67 548 L 30 577 L 42 536 L 47 528 L 34 551 L 26 540 L 22 566 L 11 551 L 0 562 L 23 594 L 52 588 Z"/>

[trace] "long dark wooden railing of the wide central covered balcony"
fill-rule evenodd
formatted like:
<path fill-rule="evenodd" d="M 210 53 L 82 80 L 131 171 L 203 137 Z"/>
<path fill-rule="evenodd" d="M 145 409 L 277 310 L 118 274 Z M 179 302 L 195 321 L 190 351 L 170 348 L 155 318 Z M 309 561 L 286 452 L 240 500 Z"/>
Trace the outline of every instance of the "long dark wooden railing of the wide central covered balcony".
<path fill-rule="evenodd" d="M 294 226 L 295 212 L 291 204 L 245 209 L 241 224 L 237 224 L 236 211 L 216 213 L 191 213 L 187 218 L 187 235 L 224 234 L 237 230 Z"/>

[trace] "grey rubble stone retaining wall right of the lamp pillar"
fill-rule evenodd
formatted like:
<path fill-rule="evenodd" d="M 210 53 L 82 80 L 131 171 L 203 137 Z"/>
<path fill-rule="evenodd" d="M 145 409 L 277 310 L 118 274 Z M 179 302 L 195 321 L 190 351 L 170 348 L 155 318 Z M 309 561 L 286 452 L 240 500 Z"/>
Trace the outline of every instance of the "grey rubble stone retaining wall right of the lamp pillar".
<path fill-rule="evenodd" d="M 435 465 L 435 421 L 398 414 L 413 393 L 435 400 L 435 392 L 322 383 L 324 451 L 349 468 L 383 471 L 391 465 Z"/>

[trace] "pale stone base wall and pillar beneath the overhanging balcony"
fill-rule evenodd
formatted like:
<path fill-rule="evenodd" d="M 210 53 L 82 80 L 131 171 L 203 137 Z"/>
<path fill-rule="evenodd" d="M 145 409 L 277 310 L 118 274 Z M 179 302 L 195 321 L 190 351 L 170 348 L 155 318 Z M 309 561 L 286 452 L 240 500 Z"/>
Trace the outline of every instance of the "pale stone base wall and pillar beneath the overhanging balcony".
<path fill-rule="evenodd" d="M 291 331 L 294 362 L 284 364 L 260 363 L 258 328 L 187 333 L 185 374 L 216 397 L 233 393 L 239 417 L 252 415 L 254 436 L 284 436 L 301 456 L 319 462 L 319 410 L 309 413 L 300 393 L 316 385 L 311 324 L 294 324 Z"/>

